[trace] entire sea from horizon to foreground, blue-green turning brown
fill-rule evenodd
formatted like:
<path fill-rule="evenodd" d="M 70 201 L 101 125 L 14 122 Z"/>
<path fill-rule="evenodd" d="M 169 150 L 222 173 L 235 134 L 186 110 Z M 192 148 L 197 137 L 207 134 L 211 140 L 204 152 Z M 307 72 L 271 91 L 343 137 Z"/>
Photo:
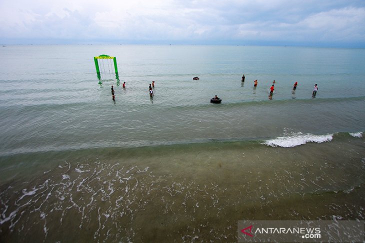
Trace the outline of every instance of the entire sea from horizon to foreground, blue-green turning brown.
<path fill-rule="evenodd" d="M 110 59 L 96 73 L 102 54 L 118 73 Z M 240 220 L 365 219 L 363 48 L 3 45 L 0 57 L 1 243 L 236 242 Z"/>

